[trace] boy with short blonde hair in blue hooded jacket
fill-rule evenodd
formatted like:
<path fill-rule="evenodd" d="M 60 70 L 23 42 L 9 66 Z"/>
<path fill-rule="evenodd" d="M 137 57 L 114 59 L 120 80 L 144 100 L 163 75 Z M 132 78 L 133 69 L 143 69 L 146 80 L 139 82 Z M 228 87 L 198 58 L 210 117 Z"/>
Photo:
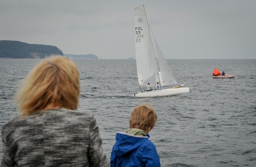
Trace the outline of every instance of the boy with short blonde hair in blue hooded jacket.
<path fill-rule="evenodd" d="M 160 159 L 148 132 L 157 122 L 157 114 L 150 104 L 137 106 L 130 117 L 130 129 L 117 132 L 111 152 L 111 167 L 158 167 Z"/>

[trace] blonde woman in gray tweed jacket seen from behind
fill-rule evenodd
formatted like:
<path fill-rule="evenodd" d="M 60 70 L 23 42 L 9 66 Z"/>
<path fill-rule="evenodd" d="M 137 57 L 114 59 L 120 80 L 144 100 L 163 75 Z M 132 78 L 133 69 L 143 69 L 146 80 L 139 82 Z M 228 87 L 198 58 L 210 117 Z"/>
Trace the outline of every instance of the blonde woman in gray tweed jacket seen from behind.
<path fill-rule="evenodd" d="M 1 166 L 109 166 L 93 114 L 75 111 L 79 96 L 73 61 L 35 66 L 16 96 L 19 116 L 2 127 Z"/>

